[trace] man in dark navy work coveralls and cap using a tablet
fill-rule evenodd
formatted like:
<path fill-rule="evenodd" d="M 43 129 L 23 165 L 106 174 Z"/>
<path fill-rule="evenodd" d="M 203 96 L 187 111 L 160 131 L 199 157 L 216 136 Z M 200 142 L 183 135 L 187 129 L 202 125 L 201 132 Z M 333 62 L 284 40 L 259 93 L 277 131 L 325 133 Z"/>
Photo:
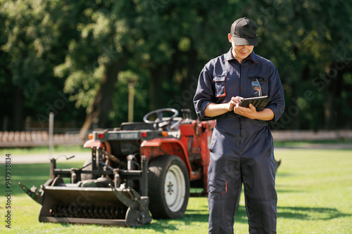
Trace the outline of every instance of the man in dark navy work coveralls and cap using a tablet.
<path fill-rule="evenodd" d="M 248 18 L 232 24 L 228 53 L 201 71 L 194 107 L 201 118 L 215 117 L 208 168 L 209 233 L 234 233 L 244 184 L 249 233 L 276 233 L 275 158 L 268 122 L 284 112 L 276 67 L 254 53 L 256 26 Z M 264 110 L 239 106 L 241 98 L 269 96 Z"/>

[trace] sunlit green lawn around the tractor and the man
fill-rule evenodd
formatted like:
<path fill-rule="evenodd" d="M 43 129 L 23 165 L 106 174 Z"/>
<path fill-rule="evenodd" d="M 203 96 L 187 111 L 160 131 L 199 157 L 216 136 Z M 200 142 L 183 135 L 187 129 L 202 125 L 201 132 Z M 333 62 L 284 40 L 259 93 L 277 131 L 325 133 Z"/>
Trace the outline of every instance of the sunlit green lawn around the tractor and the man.
<path fill-rule="evenodd" d="M 282 159 L 276 180 L 277 233 L 352 233 L 352 150 L 277 149 L 275 157 Z M 140 228 L 39 223 L 40 205 L 25 195 L 17 183 L 39 186 L 49 178 L 49 164 L 11 165 L 11 229 L 6 228 L 4 162 L 0 165 L 0 233 L 208 232 L 206 197 L 191 197 L 182 219 L 153 219 Z M 65 162 L 58 167 L 80 165 Z M 243 193 L 234 229 L 235 233 L 248 233 Z"/>

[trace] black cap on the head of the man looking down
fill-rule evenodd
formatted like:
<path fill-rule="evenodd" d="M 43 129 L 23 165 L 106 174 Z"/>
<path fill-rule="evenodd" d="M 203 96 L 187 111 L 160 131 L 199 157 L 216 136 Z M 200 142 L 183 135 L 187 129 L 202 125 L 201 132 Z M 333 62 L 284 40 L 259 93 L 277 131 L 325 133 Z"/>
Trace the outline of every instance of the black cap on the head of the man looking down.
<path fill-rule="evenodd" d="M 256 25 L 249 18 L 239 18 L 231 25 L 230 34 L 234 44 L 238 46 L 251 45 L 258 46 Z"/>

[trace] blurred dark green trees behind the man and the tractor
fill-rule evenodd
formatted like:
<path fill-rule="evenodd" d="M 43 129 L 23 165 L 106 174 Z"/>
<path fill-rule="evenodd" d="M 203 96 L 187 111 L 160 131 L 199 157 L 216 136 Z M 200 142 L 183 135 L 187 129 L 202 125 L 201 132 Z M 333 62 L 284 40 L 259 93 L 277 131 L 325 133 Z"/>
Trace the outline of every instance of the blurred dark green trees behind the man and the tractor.
<path fill-rule="evenodd" d="M 50 112 L 82 136 L 157 108 L 196 118 L 199 72 L 244 16 L 284 86 L 272 129 L 351 129 L 351 1 L 0 0 L 0 131 L 47 131 Z"/>

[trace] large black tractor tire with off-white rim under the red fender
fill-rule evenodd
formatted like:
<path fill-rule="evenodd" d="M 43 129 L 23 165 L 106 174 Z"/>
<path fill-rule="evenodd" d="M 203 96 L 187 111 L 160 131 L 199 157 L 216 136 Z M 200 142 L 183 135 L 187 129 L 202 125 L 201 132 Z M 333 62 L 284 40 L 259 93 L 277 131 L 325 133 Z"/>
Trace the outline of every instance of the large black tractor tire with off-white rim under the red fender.
<path fill-rule="evenodd" d="M 153 219 L 184 216 L 189 199 L 189 174 L 175 155 L 163 155 L 149 162 L 149 210 Z"/>

